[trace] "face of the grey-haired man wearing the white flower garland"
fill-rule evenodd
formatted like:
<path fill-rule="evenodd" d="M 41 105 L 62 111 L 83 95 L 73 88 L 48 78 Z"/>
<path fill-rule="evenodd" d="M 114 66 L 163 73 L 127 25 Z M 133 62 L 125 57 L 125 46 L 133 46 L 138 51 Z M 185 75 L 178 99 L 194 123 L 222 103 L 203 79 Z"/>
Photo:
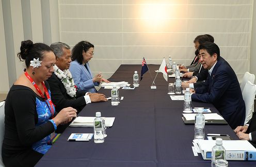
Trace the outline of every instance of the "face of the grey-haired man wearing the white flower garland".
<path fill-rule="evenodd" d="M 63 55 L 61 57 L 56 57 L 56 65 L 60 70 L 69 69 L 71 63 L 71 51 L 70 49 L 62 48 Z"/>

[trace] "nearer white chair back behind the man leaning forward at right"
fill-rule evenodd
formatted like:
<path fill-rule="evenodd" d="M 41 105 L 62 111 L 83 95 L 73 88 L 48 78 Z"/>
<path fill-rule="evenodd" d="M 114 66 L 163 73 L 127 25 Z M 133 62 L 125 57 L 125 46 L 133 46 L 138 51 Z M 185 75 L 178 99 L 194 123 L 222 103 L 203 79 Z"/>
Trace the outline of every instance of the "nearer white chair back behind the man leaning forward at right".
<path fill-rule="evenodd" d="M 256 94 L 256 85 L 251 84 L 250 81 L 247 81 L 245 88 L 242 92 L 243 99 L 245 101 L 245 123 L 248 123 L 248 121 L 252 118 L 252 113 L 254 109 L 254 98 Z"/>

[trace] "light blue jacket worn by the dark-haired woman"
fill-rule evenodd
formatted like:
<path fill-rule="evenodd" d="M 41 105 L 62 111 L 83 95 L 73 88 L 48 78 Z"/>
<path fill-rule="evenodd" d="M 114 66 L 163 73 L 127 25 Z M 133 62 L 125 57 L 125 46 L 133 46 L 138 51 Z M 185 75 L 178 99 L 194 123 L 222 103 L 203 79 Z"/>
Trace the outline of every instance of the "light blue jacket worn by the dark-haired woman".
<path fill-rule="evenodd" d="M 97 90 L 95 89 L 94 86 L 99 86 L 99 82 L 93 82 L 92 78 L 93 76 L 91 75 L 91 70 L 89 63 L 85 63 L 87 66 L 87 69 L 83 64 L 79 64 L 76 60 L 72 61 L 70 63 L 70 72 L 72 74 L 72 77 L 74 79 L 75 85 L 78 88 L 78 91 L 86 91 L 86 92 L 91 92 L 95 93 Z"/>

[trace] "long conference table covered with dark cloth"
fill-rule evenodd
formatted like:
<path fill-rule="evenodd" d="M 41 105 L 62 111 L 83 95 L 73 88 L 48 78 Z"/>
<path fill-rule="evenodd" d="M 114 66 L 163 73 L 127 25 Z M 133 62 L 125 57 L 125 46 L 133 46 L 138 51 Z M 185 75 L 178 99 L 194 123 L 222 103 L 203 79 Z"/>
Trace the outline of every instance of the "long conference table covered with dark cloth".
<path fill-rule="evenodd" d="M 119 89 L 123 96 L 118 106 L 111 101 L 85 106 L 78 116 L 115 117 L 114 125 L 106 129 L 104 143 L 67 141 L 71 133 L 93 133 L 93 128 L 68 127 L 36 166 L 211 166 L 211 160 L 194 156 L 191 146 L 194 125 L 182 120 L 183 101 L 172 101 L 168 82 L 158 73 L 156 89 L 150 89 L 159 65 L 150 64 L 139 87 L 134 90 Z M 134 71 L 140 75 L 141 65 L 122 64 L 109 81 L 129 81 L 132 86 Z M 110 89 L 99 93 L 110 95 Z M 210 107 L 208 103 L 192 102 L 192 107 Z M 238 140 L 229 125 L 206 124 L 206 133 L 224 133 Z M 206 139 L 206 137 L 205 137 Z M 229 161 L 229 166 L 256 166 L 254 161 Z"/>

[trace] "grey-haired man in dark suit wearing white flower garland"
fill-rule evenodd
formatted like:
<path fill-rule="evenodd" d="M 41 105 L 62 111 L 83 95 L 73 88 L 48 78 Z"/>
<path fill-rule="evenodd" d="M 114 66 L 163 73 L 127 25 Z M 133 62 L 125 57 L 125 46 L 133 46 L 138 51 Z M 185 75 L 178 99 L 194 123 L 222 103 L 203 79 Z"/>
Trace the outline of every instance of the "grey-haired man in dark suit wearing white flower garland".
<path fill-rule="evenodd" d="M 70 46 L 56 42 L 50 46 L 56 56 L 54 73 L 47 79 L 50 85 L 52 101 L 55 104 L 56 111 L 65 107 L 73 107 L 78 111 L 91 102 L 107 101 L 104 94 L 77 92 L 69 66 L 71 62 Z"/>

